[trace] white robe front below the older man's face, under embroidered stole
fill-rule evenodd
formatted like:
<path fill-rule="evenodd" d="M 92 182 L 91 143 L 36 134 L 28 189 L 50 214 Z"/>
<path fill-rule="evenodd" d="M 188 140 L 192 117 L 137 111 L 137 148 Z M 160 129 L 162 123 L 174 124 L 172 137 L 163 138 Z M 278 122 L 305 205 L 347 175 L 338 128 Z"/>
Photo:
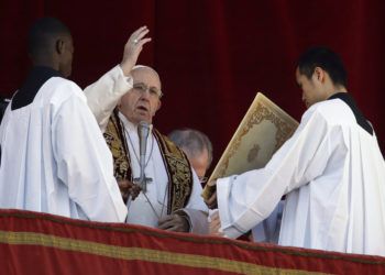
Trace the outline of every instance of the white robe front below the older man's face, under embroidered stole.
<path fill-rule="evenodd" d="M 140 176 L 138 127 L 131 123 L 122 113 L 119 113 L 119 118 L 124 127 L 124 134 L 128 143 L 127 145 L 130 151 L 132 175 L 135 178 Z M 152 132 L 147 138 L 145 163 L 145 176 L 152 178 L 153 182 L 147 184 L 147 191 L 145 193 L 145 196 L 143 193 L 140 193 L 135 200 L 129 201 L 128 223 L 156 228 L 158 226 L 160 218 L 164 218 L 167 215 L 168 176 L 160 146 Z M 191 196 L 185 209 L 208 212 L 208 208 L 200 197 L 202 191 L 201 185 L 194 170 L 193 179 L 194 184 Z M 191 226 L 194 227 L 195 224 L 193 223 Z"/>

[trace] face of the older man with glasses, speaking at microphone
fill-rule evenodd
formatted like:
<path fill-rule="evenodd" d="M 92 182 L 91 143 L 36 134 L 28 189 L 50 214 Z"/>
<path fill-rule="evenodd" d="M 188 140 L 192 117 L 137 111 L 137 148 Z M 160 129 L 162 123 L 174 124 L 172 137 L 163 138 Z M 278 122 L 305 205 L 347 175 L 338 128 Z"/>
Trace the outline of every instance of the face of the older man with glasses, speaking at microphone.
<path fill-rule="evenodd" d="M 134 124 L 140 121 L 152 123 L 161 108 L 160 77 L 150 68 L 136 68 L 131 74 L 133 88 L 121 98 L 119 110 Z"/>

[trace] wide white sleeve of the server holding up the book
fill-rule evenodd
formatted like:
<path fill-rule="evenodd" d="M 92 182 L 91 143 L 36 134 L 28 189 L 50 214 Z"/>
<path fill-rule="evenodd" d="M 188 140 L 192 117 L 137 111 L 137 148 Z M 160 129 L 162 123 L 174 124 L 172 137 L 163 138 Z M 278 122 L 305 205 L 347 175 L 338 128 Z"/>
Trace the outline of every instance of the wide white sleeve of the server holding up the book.
<path fill-rule="evenodd" d="M 218 179 L 218 208 L 224 234 L 238 238 L 248 232 L 271 215 L 283 195 L 321 175 L 334 150 L 333 131 L 340 130 L 309 109 L 292 139 L 264 168 Z"/>

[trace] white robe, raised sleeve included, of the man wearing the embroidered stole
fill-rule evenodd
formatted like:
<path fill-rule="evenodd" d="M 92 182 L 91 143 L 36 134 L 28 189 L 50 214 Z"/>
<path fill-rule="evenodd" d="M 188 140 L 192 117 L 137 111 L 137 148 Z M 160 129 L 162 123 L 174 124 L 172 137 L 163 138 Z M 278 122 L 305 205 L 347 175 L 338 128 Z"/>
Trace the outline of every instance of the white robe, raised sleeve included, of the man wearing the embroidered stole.
<path fill-rule="evenodd" d="M 124 84 L 124 81 L 125 84 Z M 122 84 L 123 81 L 123 84 Z M 118 84 L 120 82 L 120 84 Z M 125 90 L 122 89 L 125 85 Z M 123 77 L 123 73 L 119 66 L 114 67 L 107 74 L 105 74 L 97 82 L 85 89 L 85 94 L 88 100 L 92 113 L 95 114 L 101 131 L 103 132 L 109 118 L 116 108 L 120 98 L 132 88 L 132 78 Z M 123 122 L 125 130 L 130 133 L 134 151 L 139 156 L 139 138 L 136 127 L 129 122 L 124 116 L 120 113 L 120 119 Z M 148 135 L 147 148 L 146 148 L 146 161 L 151 152 L 152 143 L 155 141 L 152 134 Z M 139 177 L 140 168 L 138 160 L 134 155 L 132 145 L 129 143 L 127 138 L 128 148 L 130 151 L 130 160 L 132 165 L 132 173 L 134 177 Z M 147 185 L 146 196 L 150 202 L 141 193 L 134 201 L 129 201 L 129 223 L 136 223 L 148 227 L 157 227 L 158 218 L 167 215 L 167 196 L 165 191 L 167 189 L 168 177 L 166 173 L 166 166 L 163 162 L 161 151 L 157 142 L 155 141 L 153 146 L 153 153 L 150 157 L 148 164 L 145 168 L 146 177 L 151 177 L 153 183 Z M 193 169 L 193 190 L 189 201 L 186 208 L 180 209 L 189 219 L 190 231 L 194 233 L 207 233 L 207 213 L 208 208 L 205 205 L 201 194 L 201 185 Z M 154 210 L 152 209 L 154 208 Z M 155 215 L 156 212 L 156 215 Z M 204 212 L 204 213 L 202 213 Z"/>

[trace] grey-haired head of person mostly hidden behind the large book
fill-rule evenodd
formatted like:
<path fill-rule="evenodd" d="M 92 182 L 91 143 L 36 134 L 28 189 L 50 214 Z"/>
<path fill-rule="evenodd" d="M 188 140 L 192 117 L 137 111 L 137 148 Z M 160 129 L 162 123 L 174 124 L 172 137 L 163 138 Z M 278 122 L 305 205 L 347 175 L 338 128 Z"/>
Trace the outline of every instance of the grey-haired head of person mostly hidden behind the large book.
<path fill-rule="evenodd" d="M 206 184 L 206 172 L 212 162 L 212 145 L 209 138 L 198 130 L 186 128 L 174 130 L 168 134 L 168 139 L 186 153 L 200 183 Z"/>

